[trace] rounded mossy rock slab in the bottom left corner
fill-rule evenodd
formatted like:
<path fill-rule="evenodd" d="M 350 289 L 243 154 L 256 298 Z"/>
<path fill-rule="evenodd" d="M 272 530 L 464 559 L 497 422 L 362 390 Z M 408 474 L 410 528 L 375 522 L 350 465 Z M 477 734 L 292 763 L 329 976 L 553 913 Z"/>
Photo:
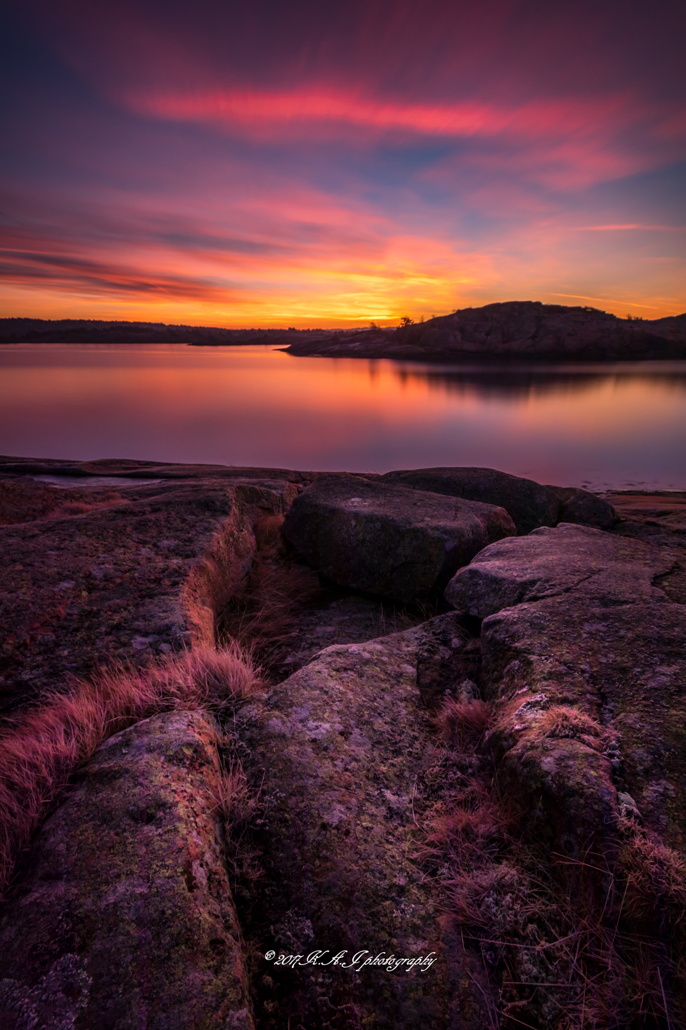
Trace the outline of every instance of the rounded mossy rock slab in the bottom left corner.
<path fill-rule="evenodd" d="M 159 715 L 76 775 L 0 918 L 3 1028 L 252 1030 L 216 741 Z"/>

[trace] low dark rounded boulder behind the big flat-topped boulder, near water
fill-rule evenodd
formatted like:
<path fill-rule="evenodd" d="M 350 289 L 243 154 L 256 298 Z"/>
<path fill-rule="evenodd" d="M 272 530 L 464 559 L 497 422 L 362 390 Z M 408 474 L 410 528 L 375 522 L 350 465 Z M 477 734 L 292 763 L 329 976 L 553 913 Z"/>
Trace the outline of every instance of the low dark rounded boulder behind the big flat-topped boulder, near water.
<path fill-rule="evenodd" d="M 562 507 L 549 487 L 497 469 L 413 469 L 387 472 L 381 482 L 497 505 L 509 514 L 518 536 L 555 525 Z"/>

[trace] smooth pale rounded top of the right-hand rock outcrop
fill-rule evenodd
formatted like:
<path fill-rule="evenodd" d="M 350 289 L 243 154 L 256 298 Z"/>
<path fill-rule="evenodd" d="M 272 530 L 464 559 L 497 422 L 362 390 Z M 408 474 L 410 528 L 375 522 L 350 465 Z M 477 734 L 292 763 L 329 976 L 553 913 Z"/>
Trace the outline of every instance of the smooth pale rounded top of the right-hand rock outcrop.
<path fill-rule="evenodd" d="M 561 523 L 484 548 L 454 576 L 445 599 L 481 619 L 513 605 L 579 589 L 614 603 L 659 602 L 664 595 L 653 580 L 672 565 L 671 556 L 648 544 Z"/>

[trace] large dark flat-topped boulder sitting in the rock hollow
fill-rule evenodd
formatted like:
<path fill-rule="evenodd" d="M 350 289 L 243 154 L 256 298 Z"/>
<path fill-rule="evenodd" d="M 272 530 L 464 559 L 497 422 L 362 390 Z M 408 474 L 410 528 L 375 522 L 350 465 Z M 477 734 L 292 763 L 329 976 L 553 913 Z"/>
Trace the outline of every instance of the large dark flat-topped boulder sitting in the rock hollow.
<path fill-rule="evenodd" d="M 283 526 L 328 579 L 401 603 L 444 589 L 478 551 L 514 533 L 503 508 L 346 474 L 319 476 Z"/>

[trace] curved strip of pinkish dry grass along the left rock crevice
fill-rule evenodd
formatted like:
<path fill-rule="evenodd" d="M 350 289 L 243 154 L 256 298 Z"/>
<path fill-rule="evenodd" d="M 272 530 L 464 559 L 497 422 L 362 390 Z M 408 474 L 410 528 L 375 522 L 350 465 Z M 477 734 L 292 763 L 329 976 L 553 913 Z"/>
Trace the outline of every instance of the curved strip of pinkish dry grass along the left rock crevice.
<path fill-rule="evenodd" d="M 0 891 L 72 771 L 104 740 L 157 712 L 221 711 L 259 683 L 237 645 L 198 648 L 141 668 L 114 665 L 24 716 L 0 735 Z"/>

